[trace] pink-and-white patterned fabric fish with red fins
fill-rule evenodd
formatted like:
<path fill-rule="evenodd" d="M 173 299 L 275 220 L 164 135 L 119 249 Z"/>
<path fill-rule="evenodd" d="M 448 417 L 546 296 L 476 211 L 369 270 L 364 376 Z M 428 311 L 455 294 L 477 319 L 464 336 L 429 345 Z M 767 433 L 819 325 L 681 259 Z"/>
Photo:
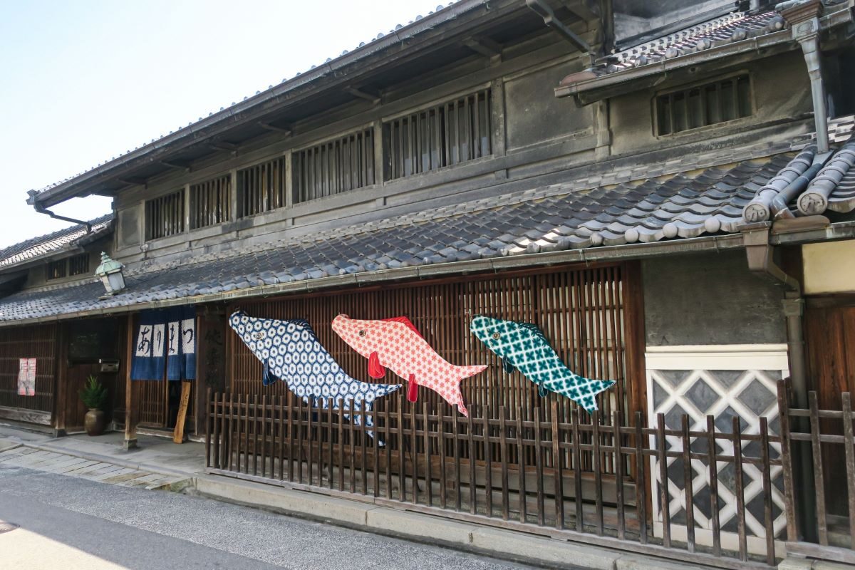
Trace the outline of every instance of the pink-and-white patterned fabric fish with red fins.
<path fill-rule="evenodd" d="M 486 366 L 455 366 L 439 356 L 406 317 L 356 320 L 339 314 L 333 331 L 362 356 L 369 359 L 369 374 L 383 378 L 386 368 L 410 383 L 407 399 L 416 402 L 418 386 L 439 394 L 460 413 L 469 416 L 460 382 L 484 371 Z"/>

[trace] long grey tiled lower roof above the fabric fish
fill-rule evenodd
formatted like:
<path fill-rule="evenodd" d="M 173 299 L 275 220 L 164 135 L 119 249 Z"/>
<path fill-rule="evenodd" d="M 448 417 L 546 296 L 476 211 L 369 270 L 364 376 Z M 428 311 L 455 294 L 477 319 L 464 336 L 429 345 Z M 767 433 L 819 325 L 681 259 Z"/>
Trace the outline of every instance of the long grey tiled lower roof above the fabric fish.
<path fill-rule="evenodd" d="M 846 128 L 851 135 L 853 124 L 852 117 L 837 119 L 829 131 L 840 141 Z M 812 148 L 802 142 L 726 149 L 626 170 L 588 171 L 584 179 L 557 185 L 140 266 L 126 270 L 125 291 L 106 299 L 98 298 L 103 285 L 95 279 L 20 291 L 0 299 L 0 321 L 185 298 L 204 303 L 205 296 L 231 291 L 239 297 L 268 285 L 398 267 L 734 233 L 758 191 L 805 161 Z M 851 148 L 843 144 L 837 155 L 849 156 Z M 850 171 L 828 191 L 828 203 L 851 197 L 855 171 Z M 795 202 L 788 205 L 792 211 Z"/>

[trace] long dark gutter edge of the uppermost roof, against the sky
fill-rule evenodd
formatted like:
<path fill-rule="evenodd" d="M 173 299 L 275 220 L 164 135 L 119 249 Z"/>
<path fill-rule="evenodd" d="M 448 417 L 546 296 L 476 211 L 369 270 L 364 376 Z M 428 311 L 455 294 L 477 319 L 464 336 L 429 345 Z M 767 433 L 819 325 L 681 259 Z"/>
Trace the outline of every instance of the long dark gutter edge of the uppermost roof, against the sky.
<path fill-rule="evenodd" d="M 97 179 L 98 177 L 104 177 L 116 168 L 127 166 L 129 162 L 144 159 L 158 150 L 163 150 L 165 152 L 168 150 L 167 147 L 170 145 L 180 144 L 182 141 L 186 141 L 187 144 L 198 143 L 204 138 L 213 136 L 216 128 L 233 126 L 234 123 L 239 122 L 241 114 L 250 111 L 268 111 L 280 103 L 286 103 L 288 99 L 294 97 L 293 91 L 296 91 L 298 88 L 309 85 L 317 79 L 321 79 L 331 74 L 335 76 L 339 70 L 359 62 L 365 57 L 383 50 L 388 50 L 395 45 L 404 44 L 408 39 L 414 38 L 416 35 L 422 32 L 427 32 L 428 30 L 433 29 L 433 27 L 444 24 L 445 22 L 453 21 L 457 19 L 457 17 L 482 5 L 486 5 L 491 10 L 494 10 L 495 8 L 489 6 L 489 3 L 489 0 L 458 0 L 457 3 L 441 9 L 433 15 L 425 16 L 421 20 L 414 21 L 412 24 L 404 26 L 399 30 L 387 33 L 382 38 L 374 39 L 362 47 L 358 47 L 353 51 L 336 57 L 331 62 L 325 62 L 310 71 L 299 73 L 296 77 L 287 79 L 279 85 L 275 85 L 272 89 L 262 91 L 252 97 L 247 97 L 245 101 L 235 103 L 227 109 L 223 109 L 209 117 L 198 120 L 189 126 L 180 128 L 176 132 L 165 137 L 158 138 L 153 143 L 145 144 L 137 150 L 132 150 L 124 156 L 115 158 L 114 160 L 106 162 L 99 167 L 92 168 L 91 170 L 81 173 L 79 176 L 75 176 L 72 179 L 68 179 L 48 190 L 32 194 L 27 198 L 27 203 L 31 206 L 35 206 L 37 203 L 44 203 L 47 206 L 60 203 L 63 200 L 78 195 L 78 193 L 73 192 L 68 197 L 64 196 L 69 191 L 72 191 L 76 185 L 80 185 L 88 180 Z M 404 50 L 398 50 L 392 58 L 403 51 Z M 352 79 L 348 73 L 340 73 L 339 77 L 337 77 L 336 83 L 346 83 L 351 80 Z M 329 86 L 330 85 L 326 85 L 325 88 L 328 88 Z M 212 132 L 205 132 L 206 129 L 211 129 Z M 161 158 L 162 157 L 150 157 L 150 162 L 155 162 Z M 80 193 L 82 195 L 86 195 L 85 191 L 81 191 Z"/>

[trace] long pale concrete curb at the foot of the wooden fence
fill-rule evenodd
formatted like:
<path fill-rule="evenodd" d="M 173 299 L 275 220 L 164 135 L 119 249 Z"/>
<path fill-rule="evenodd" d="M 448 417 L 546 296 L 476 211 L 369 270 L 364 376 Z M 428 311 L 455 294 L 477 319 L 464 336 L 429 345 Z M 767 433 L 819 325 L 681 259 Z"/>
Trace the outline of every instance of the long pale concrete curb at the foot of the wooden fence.
<path fill-rule="evenodd" d="M 216 475 L 195 477 L 188 491 L 299 518 L 543 567 L 576 570 L 709 568 Z"/>

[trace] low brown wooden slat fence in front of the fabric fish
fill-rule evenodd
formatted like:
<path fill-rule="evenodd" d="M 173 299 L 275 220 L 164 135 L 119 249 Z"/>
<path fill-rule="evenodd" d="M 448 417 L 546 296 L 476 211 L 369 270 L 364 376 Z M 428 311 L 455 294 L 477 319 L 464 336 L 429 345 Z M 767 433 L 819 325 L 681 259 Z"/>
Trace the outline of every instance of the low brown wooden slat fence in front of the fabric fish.
<path fill-rule="evenodd" d="M 324 493 L 356 494 L 377 502 L 406 503 L 409 508 L 429 508 L 454 517 L 475 517 L 498 526 L 535 526 L 551 532 L 585 534 L 594 538 L 634 542 L 640 549 L 671 549 L 683 556 L 722 556 L 731 567 L 766 567 L 778 558 L 775 540 L 765 540 L 762 555 L 752 557 L 747 549 L 748 532 L 740 516 L 738 547 L 722 548 L 721 529 L 715 528 L 713 547 L 694 538 L 692 516 L 676 520 L 665 516 L 668 538 L 652 537 L 647 531 L 644 493 L 625 467 L 633 461 L 680 459 L 707 468 L 710 449 L 722 442 L 733 444 L 734 454 L 716 454 L 714 461 L 731 463 L 739 475 L 746 466 L 765 473 L 781 467 L 781 438 L 769 433 L 765 420 L 759 434 L 740 433 L 738 420 L 732 432 L 719 432 L 714 425 L 695 426 L 686 418 L 681 429 L 641 423 L 621 424 L 616 412 L 596 414 L 591 423 L 579 421 L 575 408 L 569 414 L 553 412 L 544 421 L 544 410 L 528 414 L 521 406 L 473 406 L 465 418 L 447 404 L 408 403 L 403 394 L 381 398 L 372 410 L 352 402 L 300 398 L 261 397 L 248 399 L 231 392 L 209 398 L 208 466 L 212 473 L 289 485 Z M 559 407 L 557 402 L 552 407 Z M 237 431 L 229 431 L 233 414 L 245 416 Z M 584 412 L 582 412 L 584 414 Z M 636 421 L 642 420 L 640 414 Z M 684 445 L 668 449 L 668 439 Z M 705 441 L 708 447 L 694 451 L 686 442 Z M 226 442 L 229 443 L 226 443 Z M 656 445 L 648 442 L 655 441 Z M 382 442 L 382 444 L 380 444 Z M 746 455 L 743 443 L 759 447 L 757 456 Z M 223 452 L 237 445 L 243 467 L 229 467 Z M 459 453 L 463 446 L 465 453 Z M 268 450 L 276 449 L 276 461 Z M 534 466 L 518 462 L 534 450 Z M 608 458 L 616 473 L 587 473 L 570 467 L 568 458 L 591 455 L 594 464 Z M 516 458 L 516 460 L 511 458 Z M 537 461 L 540 458 L 540 461 Z M 252 461 L 252 468 L 248 465 Z M 285 467 L 280 466 L 282 463 Z M 643 469 L 637 469 L 639 473 Z M 684 489 L 694 477 L 683 471 Z M 737 476 L 737 481 L 739 477 Z M 741 484 L 736 483 L 738 492 Z M 770 497 L 770 479 L 764 479 L 764 500 Z M 447 492 L 454 493 L 449 500 Z M 640 499 L 642 500 L 640 502 Z M 770 501 L 769 501 L 770 502 Z M 693 499 L 687 499 L 693 508 Z M 459 507 L 457 506 L 459 505 Z M 745 509 L 740 501 L 740 508 Z M 764 526 L 771 529 L 771 511 L 765 510 Z M 529 514 L 535 514 L 533 519 Z M 688 525 L 692 529 L 688 529 Z M 672 529 L 681 528 L 678 534 Z M 573 530 L 569 530 L 573 529 Z M 739 566 L 743 564 L 743 566 Z"/>

